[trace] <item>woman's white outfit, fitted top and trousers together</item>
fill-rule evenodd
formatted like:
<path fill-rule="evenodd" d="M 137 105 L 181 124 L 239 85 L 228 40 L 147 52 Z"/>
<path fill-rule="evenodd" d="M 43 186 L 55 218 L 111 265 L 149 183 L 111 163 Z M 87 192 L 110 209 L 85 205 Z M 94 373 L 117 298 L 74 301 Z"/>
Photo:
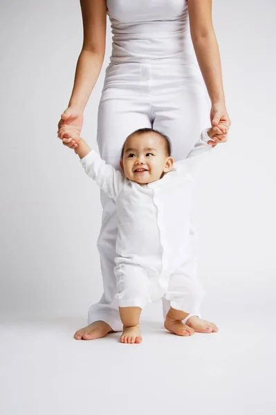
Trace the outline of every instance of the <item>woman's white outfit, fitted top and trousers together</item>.
<path fill-rule="evenodd" d="M 153 127 L 169 136 L 174 160 L 187 157 L 199 133 L 210 122 L 205 85 L 194 50 L 189 46 L 192 42 L 187 1 L 147 0 L 145 5 L 145 0 L 107 0 L 107 14 L 114 37 L 98 109 L 97 142 L 101 158 L 120 169 L 120 151 L 125 138 L 142 127 Z M 89 307 L 88 323 L 103 320 L 114 331 L 121 331 L 114 274 L 118 234 L 116 205 L 103 191 L 101 203 L 98 250 L 104 293 L 100 302 Z M 196 279 L 196 236 L 193 221 L 189 263 L 193 279 Z M 162 302 L 165 317 L 169 301 L 163 297 Z M 191 313 L 189 304 L 185 311 Z"/>

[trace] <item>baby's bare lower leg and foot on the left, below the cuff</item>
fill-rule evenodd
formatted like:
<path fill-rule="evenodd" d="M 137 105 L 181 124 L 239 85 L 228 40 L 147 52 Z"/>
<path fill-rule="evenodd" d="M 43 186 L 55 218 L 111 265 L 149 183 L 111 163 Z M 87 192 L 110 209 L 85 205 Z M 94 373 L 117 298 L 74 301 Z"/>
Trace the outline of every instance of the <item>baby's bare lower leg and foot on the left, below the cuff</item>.
<path fill-rule="evenodd" d="M 119 307 L 120 317 L 123 324 L 123 331 L 120 338 L 121 343 L 141 343 L 140 333 L 140 307 Z"/>

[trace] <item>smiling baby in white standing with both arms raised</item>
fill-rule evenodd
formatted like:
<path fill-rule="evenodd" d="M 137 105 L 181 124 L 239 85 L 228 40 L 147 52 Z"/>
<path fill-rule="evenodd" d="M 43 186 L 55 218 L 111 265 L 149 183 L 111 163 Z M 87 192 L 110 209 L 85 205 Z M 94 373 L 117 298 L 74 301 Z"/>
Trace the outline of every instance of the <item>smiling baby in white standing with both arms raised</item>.
<path fill-rule="evenodd" d="M 72 127 L 64 125 L 62 136 L 80 157 L 86 174 L 116 203 L 114 273 L 123 324 L 120 341 L 142 342 L 142 308 L 163 296 L 170 303 L 165 328 L 177 335 L 194 334 L 185 323 L 199 319 L 203 289 L 192 266 L 192 183 L 215 145 L 217 132 L 204 130 L 187 158 L 174 162 L 167 136 L 154 129 L 138 129 L 122 146 L 122 172 L 107 165 Z M 205 333 L 217 330 L 209 323 Z"/>

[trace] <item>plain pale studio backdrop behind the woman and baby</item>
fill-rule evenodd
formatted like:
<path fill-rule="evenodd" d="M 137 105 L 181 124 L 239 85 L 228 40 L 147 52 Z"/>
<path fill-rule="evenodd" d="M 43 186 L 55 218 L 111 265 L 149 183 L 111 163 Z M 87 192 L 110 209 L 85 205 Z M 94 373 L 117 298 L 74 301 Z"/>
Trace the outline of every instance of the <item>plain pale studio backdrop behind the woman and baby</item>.
<path fill-rule="evenodd" d="M 199 186 L 199 278 L 209 318 L 223 308 L 256 313 L 275 297 L 275 10 L 273 0 L 214 1 L 232 127 Z M 2 0 L 0 30 L 1 313 L 85 318 L 102 295 L 100 191 L 56 134 L 82 46 L 80 6 Z M 82 130 L 94 148 L 110 54 L 108 24 Z"/>

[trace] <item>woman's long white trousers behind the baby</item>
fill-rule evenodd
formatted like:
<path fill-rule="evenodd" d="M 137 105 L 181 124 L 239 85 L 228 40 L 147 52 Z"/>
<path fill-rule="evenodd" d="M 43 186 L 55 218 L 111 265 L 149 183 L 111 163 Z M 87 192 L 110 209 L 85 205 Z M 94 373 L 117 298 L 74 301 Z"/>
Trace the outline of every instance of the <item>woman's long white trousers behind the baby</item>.
<path fill-rule="evenodd" d="M 97 141 L 102 159 L 116 169 L 120 169 L 120 151 L 125 138 L 138 128 L 152 127 L 169 136 L 172 156 L 177 161 L 187 156 L 199 133 L 209 123 L 207 94 L 196 64 L 125 63 L 107 67 L 98 109 Z M 101 202 L 103 212 L 98 250 L 104 294 L 100 302 L 89 308 L 89 324 L 103 320 L 114 331 L 121 331 L 114 274 L 118 219 L 113 199 L 102 191 Z M 194 225 L 190 238 L 195 246 Z M 190 278 L 196 280 L 195 248 L 190 269 Z M 188 285 L 186 291 L 189 291 Z M 199 315 L 199 300 L 195 293 L 187 297 L 190 299 L 185 311 Z M 170 300 L 163 298 L 164 317 L 169 306 Z"/>

